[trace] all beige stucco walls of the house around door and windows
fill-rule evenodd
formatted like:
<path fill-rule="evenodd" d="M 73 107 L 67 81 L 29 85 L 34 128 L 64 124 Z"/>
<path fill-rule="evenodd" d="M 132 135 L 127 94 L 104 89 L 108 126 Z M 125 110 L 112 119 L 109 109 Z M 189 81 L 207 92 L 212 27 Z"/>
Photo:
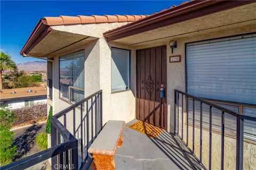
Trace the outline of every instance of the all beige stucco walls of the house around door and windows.
<path fill-rule="evenodd" d="M 76 47 L 70 52 L 75 52 L 79 49 L 85 49 L 85 96 L 92 94 L 93 92 L 102 89 L 103 90 L 103 124 L 108 120 L 124 120 L 129 122 L 135 118 L 135 50 L 143 49 L 155 46 L 166 45 L 166 63 L 167 63 L 167 131 L 174 132 L 174 89 L 185 91 L 185 43 L 193 41 L 206 40 L 212 38 L 220 38 L 226 36 L 240 35 L 243 33 L 255 32 L 256 25 L 227 25 L 227 27 L 218 27 L 208 30 L 198 30 L 198 32 L 186 33 L 186 35 L 173 36 L 170 39 L 162 39 L 156 41 L 149 41 L 142 46 L 129 46 L 118 43 L 107 43 L 102 35 L 109 29 L 113 29 L 121 26 L 125 23 L 104 23 L 104 24 L 83 24 L 83 25 L 68 25 L 68 26 L 54 26 L 52 29 L 66 32 L 78 33 L 86 36 L 92 36 L 97 40 L 86 43 L 82 46 Z M 171 27 L 169 28 L 171 30 Z M 198 28 L 199 29 L 199 28 Z M 150 34 L 149 34 L 150 35 Z M 178 35 L 178 34 L 177 34 Z M 145 36 L 147 36 L 145 34 Z M 164 36 L 164 35 L 162 35 Z M 171 48 L 168 45 L 169 41 L 174 39 L 177 41 L 177 48 L 173 50 L 171 54 Z M 131 50 L 131 90 L 111 93 L 111 47 L 125 48 Z M 61 52 L 53 56 L 54 58 L 54 71 L 53 71 L 53 113 L 56 114 L 69 106 L 68 103 L 59 99 L 59 56 L 63 55 Z M 180 63 L 169 63 L 169 56 L 181 55 Z M 79 111 L 78 111 L 79 112 Z M 71 114 L 70 114 L 71 115 Z M 83 115 L 84 116 L 84 115 Z M 77 116 L 78 117 L 78 116 Z M 76 117 L 76 129 L 79 134 L 79 118 Z M 72 117 L 69 117 L 72 120 Z M 69 122 L 68 128 L 71 131 L 73 129 L 72 122 Z M 191 134 L 191 133 L 190 133 Z M 198 135 L 198 133 L 196 133 Z M 203 139 L 203 163 L 207 163 L 207 132 Z M 79 138 L 79 135 L 77 136 Z M 196 137 L 198 139 L 198 137 Z M 218 141 L 220 141 L 220 135 L 213 133 L 213 138 L 216 142 L 213 142 L 213 169 L 219 169 L 220 163 L 220 147 Z M 190 138 L 191 139 L 191 138 Z M 208 141 L 209 142 L 209 141 Z M 195 148 L 198 147 L 196 142 Z M 191 143 L 189 144 L 189 146 Z M 233 163 L 235 151 L 235 140 L 233 138 L 225 138 L 225 150 L 229 150 L 229 154 L 225 157 L 225 167 L 227 169 L 233 169 L 235 163 Z M 191 147 L 191 146 L 190 146 Z M 245 169 L 253 169 L 255 167 L 255 145 L 250 143 L 244 144 L 244 163 Z M 198 154 L 198 150 L 196 150 Z M 234 152 L 235 153 L 235 152 Z"/>

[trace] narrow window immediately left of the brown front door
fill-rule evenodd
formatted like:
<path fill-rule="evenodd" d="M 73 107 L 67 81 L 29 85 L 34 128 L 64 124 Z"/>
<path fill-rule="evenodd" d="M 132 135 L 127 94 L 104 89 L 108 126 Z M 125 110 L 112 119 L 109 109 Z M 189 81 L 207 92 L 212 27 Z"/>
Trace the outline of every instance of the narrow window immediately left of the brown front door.
<path fill-rule="evenodd" d="M 111 48 L 111 92 L 130 89 L 130 50 Z"/>

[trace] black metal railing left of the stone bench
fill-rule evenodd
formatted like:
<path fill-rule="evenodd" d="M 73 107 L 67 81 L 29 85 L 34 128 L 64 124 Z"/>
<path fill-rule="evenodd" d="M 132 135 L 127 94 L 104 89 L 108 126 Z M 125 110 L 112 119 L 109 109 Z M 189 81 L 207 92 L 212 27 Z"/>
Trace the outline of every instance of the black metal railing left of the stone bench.
<path fill-rule="evenodd" d="M 76 122 L 76 111 L 79 111 L 79 122 Z M 67 128 L 67 122 L 70 122 L 67 121 L 67 116 L 70 116 L 70 112 L 73 114 L 71 115 L 73 132 L 68 130 L 70 126 Z M 90 166 L 87 149 L 101 129 L 102 90 L 99 90 L 52 116 L 51 148 L 3 166 L 1 169 L 26 169 L 49 158 L 52 158 L 52 169 L 82 169 L 84 166 Z M 85 134 L 86 138 L 84 138 Z"/>

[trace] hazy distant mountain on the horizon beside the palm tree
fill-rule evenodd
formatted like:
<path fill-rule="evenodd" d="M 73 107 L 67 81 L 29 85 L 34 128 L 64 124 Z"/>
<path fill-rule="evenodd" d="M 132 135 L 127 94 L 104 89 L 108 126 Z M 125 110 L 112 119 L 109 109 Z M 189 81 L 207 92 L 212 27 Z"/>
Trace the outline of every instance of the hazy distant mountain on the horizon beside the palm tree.
<path fill-rule="evenodd" d="M 17 66 L 18 66 L 19 71 L 21 71 L 21 70 L 24 70 L 26 72 L 46 71 L 47 62 L 45 62 L 45 61 L 34 61 L 34 62 L 18 63 Z"/>

